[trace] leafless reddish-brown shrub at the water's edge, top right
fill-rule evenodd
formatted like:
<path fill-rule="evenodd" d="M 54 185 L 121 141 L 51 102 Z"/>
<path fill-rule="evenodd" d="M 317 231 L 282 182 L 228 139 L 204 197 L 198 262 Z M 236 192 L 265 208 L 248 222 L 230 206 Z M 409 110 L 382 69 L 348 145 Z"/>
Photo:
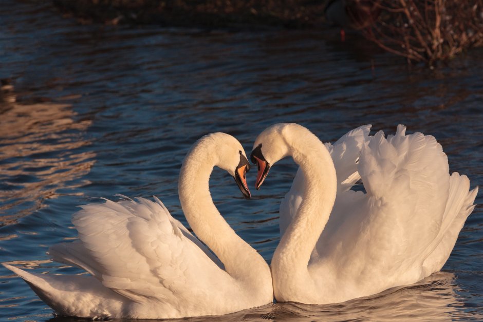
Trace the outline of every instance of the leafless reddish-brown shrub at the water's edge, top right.
<path fill-rule="evenodd" d="M 364 36 L 409 62 L 433 65 L 483 46 L 483 0 L 378 0 L 377 7 Z"/>

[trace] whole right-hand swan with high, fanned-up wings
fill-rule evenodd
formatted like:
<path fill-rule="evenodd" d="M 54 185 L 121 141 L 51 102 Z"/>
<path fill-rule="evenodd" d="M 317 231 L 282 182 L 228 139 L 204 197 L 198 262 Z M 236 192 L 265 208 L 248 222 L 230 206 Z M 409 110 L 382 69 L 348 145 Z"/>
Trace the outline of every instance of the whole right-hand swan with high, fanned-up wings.
<path fill-rule="evenodd" d="M 295 213 L 271 262 L 277 301 L 343 302 L 412 284 L 447 261 L 477 188 L 449 175 L 434 137 L 405 135 L 402 125 L 369 137 L 369 127 L 329 146 L 332 156 L 298 124 L 275 124 L 255 140 L 257 189 L 278 160 L 300 166 L 281 210 Z M 366 193 L 350 190 L 359 177 Z"/>

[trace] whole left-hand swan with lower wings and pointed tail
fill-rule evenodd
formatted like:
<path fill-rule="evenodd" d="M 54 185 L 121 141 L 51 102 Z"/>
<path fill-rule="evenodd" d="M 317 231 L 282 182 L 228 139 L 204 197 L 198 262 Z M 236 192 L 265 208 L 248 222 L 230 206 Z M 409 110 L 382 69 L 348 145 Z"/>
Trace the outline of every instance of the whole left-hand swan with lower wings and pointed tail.
<path fill-rule="evenodd" d="M 268 264 L 213 204 L 208 184 L 214 166 L 232 175 L 250 197 L 245 177 L 249 162 L 242 145 L 220 132 L 199 139 L 184 159 L 178 185 L 182 210 L 199 240 L 156 197 L 156 202 L 105 199 L 82 206 L 72 216 L 78 241 L 49 249 L 54 260 L 91 276 L 35 274 L 4 266 L 60 315 L 179 318 L 271 303 Z"/>

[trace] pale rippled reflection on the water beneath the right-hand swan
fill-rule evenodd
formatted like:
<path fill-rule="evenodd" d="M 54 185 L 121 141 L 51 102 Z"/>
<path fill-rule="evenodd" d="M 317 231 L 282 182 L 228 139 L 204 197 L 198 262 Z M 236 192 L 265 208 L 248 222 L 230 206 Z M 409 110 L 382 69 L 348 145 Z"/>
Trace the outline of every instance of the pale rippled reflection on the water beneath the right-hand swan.
<path fill-rule="evenodd" d="M 282 303 L 281 310 L 286 312 L 274 316 L 274 320 L 285 320 L 283 316 L 290 314 L 296 316 L 295 320 L 298 321 L 314 318 L 324 321 L 452 320 L 457 317 L 460 306 L 454 278 L 452 273 L 437 272 L 413 285 L 396 287 L 342 304 L 313 306 Z"/>

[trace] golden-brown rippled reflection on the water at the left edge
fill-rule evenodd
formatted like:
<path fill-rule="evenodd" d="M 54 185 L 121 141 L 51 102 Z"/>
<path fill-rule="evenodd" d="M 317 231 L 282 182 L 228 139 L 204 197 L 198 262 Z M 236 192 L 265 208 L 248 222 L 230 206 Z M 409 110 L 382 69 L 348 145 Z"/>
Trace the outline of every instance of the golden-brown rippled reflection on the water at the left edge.
<path fill-rule="evenodd" d="M 0 96 L 0 226 L 42 209 L 45 200 L 56 198 L 60 189 L 85 185 L 76 179 L 90 171 L 95 156 L 92 151 L 80 151 L 90 144 L 82 132 L 91 121 L 76 121 L 71 105 L 18 103 L 12 86 L 8 93 L 4 87 Z"/>

